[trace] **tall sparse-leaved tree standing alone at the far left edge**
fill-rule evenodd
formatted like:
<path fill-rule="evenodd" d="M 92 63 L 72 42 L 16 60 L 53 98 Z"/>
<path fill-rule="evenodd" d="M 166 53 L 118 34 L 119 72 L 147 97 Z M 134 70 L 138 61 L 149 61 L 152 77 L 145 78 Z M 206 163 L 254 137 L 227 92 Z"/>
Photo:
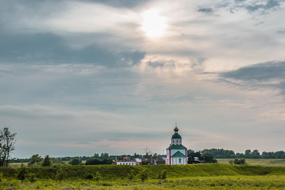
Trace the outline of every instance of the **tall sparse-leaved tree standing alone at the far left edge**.
<path fill-rule="evenodd" d="M 8 127 L 4 127 L 0 130 L 0 166 L 3 167 L 15 159 L 11 155 L 15 150 L 16 136 L 17 133 L 11 134 Z"/>

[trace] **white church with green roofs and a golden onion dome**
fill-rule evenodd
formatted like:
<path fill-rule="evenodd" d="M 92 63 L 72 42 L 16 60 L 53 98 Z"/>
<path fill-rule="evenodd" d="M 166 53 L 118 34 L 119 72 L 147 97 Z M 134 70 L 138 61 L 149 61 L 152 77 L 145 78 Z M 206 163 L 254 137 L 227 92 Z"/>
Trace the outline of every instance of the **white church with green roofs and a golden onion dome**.
<path fill-rule="evenodd" d="M 187 164 L 187 148 L 182 145 L 182 138 L 180 134 L 178 134 L 177 126 L 174 128 L 174 134 L 171 137 L 171 144 L 166 148 L 165 164 Z"/>

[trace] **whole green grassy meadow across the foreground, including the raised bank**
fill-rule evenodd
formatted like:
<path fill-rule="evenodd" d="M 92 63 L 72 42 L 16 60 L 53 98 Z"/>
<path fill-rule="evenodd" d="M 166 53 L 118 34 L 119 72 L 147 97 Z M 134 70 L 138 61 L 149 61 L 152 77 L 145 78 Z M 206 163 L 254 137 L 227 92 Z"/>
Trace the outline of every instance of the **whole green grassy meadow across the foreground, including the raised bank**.
<path fill-rule="evenodd" d="M 21 168 L 0 168 L 0 189 L 285 189 L 283 166 L 92 165 L 24 170 L 21 181 L 17 177 Z M 166 178 L 160 175 L 163 171 Z"/>

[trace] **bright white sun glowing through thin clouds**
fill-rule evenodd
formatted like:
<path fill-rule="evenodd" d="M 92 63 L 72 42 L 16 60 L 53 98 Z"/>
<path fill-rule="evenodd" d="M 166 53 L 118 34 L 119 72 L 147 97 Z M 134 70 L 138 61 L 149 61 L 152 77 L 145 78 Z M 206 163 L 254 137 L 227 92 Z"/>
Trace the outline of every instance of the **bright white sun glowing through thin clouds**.
<path fill-rule="evenodd" d="M 161 36 L 166 28 L 165 18 L 158 14 L 156 9 L 151 9 L 143 13 L 143 27 L 149 37 Z"/>

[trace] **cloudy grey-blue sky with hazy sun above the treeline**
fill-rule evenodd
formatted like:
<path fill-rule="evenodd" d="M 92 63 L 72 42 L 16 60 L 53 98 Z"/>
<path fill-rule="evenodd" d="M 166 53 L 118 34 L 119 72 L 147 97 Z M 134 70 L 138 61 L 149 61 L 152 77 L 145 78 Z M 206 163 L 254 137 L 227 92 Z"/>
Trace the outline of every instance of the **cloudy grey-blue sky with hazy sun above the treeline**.
<path fill-rule="evenodd" d="M 284 0 L 2 0 L 14 157 L 285 144 Z"/>

